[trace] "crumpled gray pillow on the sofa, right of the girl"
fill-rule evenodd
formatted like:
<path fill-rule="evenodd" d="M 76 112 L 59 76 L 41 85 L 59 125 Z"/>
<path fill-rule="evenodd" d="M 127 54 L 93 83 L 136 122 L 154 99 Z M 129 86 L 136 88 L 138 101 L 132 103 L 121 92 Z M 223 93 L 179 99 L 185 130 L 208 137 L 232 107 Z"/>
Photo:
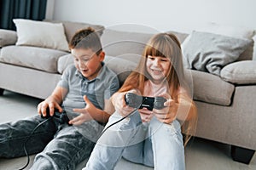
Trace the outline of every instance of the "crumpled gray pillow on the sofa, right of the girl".
<path fill-rule="evenodd" d="M 183 56 L 190 69 L 220 74 L 224 65 L 236 61 L 252 41 L 193 31 L 182 43 Z"/>

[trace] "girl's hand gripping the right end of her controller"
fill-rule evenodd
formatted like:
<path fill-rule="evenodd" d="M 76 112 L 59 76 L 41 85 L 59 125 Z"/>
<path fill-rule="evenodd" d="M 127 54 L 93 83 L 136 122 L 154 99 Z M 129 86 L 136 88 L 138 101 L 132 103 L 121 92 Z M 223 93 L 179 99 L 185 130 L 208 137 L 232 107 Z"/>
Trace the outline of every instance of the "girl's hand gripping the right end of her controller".
<path fill-rule="evenodd" d="M 166 107 L 161 110 L 154 109 L 154 116 L 156 116 L 160 122 L 170 124 L 176 119 L 178 104 L 171 98 L 169 94 L 163 94 L 160 96 L 167 99 L 167 101 L 164 103 Z"/>

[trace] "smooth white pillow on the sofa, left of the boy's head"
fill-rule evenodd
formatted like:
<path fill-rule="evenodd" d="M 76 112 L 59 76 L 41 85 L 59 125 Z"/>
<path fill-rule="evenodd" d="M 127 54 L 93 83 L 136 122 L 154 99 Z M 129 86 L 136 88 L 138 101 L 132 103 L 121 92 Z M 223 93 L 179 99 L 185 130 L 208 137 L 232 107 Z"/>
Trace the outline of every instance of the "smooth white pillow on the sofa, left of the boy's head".
<path fill-rule="evenodd" d="M 16 45 L 54 48 L 68 51 L 67 38 L 61 23 L 15 19 L 18 41 Z"/>

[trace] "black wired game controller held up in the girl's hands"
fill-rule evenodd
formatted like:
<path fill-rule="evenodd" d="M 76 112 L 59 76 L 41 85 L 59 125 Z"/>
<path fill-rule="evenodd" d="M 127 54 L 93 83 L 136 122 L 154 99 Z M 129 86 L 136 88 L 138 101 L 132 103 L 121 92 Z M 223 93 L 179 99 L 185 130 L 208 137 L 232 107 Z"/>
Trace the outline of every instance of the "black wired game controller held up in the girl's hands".
<path fill-rule="evenodd" d="M 153 108 L 160 110 L 163 109 L 166 99 L 163 97 L 146 97 L 140 96 L 137 94 L 127 93 L 125 94 L 125 103 L 130 107 L 142 109 L 143 107 L 147 108 L 149 111 L 152 111 Z"/>

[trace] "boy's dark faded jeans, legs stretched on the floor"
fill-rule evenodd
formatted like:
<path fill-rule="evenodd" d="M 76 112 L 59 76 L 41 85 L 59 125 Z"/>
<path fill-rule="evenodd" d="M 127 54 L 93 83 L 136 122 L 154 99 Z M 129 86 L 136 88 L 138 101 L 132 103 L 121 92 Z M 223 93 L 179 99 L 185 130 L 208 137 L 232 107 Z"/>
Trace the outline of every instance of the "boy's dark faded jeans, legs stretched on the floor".
<path fill-rule="evenodd" d="M 0 157 L 25 156 L 23 144 L 32 130 L 44 120 L 40 116 L 32 116 L 18 122 L 1 124 Z M 96 126 L 90 126 L 91 123 L 93 122 L 88 122 L 86 131 L 91 130 L 91 135 L 96 135 L 98 129 Z M 35 157 L 31 169 L 75 169 L 79 162 L 90 156 L 95 145 L 94 141 L 79 132 L 78 127 L 59 124 L 56 118 L 44 122 L 26 143 L 29 154 L 40 152 Z"/>

